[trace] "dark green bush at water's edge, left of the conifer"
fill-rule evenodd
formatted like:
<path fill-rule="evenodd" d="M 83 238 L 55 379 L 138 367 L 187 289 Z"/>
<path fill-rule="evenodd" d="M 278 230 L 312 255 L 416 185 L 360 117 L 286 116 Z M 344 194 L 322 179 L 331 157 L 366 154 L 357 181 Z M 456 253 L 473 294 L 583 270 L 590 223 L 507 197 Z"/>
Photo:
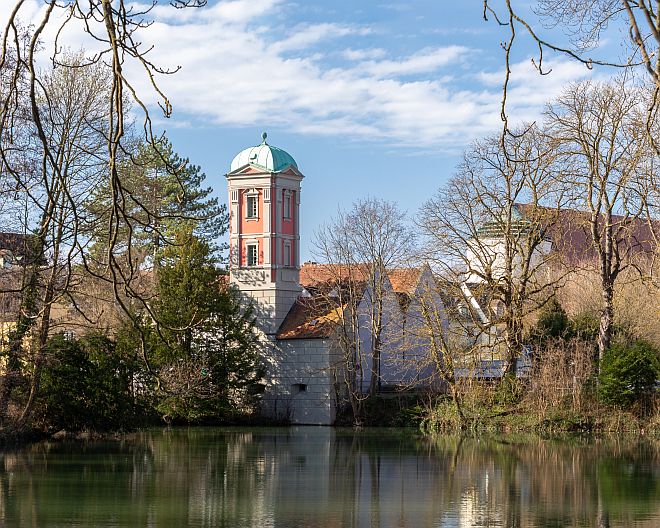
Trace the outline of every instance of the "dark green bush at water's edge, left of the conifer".
<path fill-rule="evenodd" d="M 39 405 L 46 429 L 109 431 L 135 424 L 136 363 L 118 354 L 107 337 L 58 334 L 50 338 L 46 357 Z"/>

